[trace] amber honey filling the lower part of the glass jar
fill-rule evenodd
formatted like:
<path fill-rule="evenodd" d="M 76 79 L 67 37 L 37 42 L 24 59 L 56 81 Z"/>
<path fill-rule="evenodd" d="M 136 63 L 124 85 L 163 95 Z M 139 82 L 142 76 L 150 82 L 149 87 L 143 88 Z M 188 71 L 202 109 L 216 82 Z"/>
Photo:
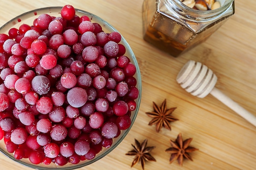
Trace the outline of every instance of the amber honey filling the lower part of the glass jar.
<path fill-rule="evenodd" d="M 177 57 L 207 40 L 224 23 L 225 19 L 233 15 L 233 13 L 226 15 L 195 32 L 180 21 L 159 13 L 156 10 L 156 4 L 150 3 L 155 2 L 155 0 L 146 1 L 147 3 L 144 3 L 143 8 L 144 40 L 171 54 L 173 57 Z M 197 23 L 191 22 L 187 24 L 195 26 Z"/>

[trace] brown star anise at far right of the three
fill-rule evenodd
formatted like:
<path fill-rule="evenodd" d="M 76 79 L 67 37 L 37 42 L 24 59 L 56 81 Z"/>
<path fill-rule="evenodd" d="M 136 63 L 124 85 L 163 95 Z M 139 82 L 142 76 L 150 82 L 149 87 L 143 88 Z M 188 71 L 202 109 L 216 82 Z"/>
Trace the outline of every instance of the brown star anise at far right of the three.
<path fill-rule="evenodd" d="M 184 157 L 193 161 L 189 153 L 198 149 L 189 146 L 192 138 L 183 141 L 180 133 L 175 141 L 170 141 L 172 147 L 165 150 L 166 152 L 171 153 L 170 163 L 173 163 L 173 161 L 177 159 L 180 166 L 182 166 Z"/>

